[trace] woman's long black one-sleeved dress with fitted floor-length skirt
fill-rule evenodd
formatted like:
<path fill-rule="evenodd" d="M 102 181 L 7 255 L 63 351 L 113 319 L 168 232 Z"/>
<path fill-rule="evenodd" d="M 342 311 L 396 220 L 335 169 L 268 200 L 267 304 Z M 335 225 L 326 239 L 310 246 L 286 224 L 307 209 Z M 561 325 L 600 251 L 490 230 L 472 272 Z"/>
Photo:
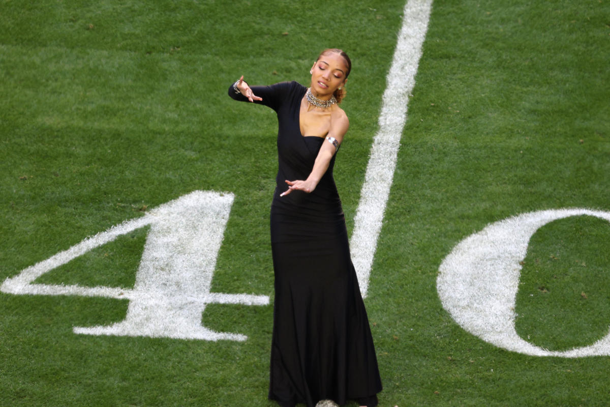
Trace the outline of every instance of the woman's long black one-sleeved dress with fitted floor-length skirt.
<path fill-rule="evenodd" d="M 278 113 L 278 176 L 271 204 L 275 300 L 269 398 L 313 407 L 331 399 L 375 406 L 381 378 L 367 312 L 351 262 L 345 218 L 332 178 L 333 156 L 314 192 L 288 189 L 307 179 L 325 139 L 303 137 L 297 82 L 251 87 Z M 229 88 L 229 95 L 247 99 Z"/>

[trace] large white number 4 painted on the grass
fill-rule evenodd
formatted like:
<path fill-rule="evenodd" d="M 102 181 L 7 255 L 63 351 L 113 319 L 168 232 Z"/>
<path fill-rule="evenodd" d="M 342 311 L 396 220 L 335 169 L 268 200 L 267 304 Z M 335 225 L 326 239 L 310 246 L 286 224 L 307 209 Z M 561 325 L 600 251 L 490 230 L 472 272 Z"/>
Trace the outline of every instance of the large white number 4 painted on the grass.
<path fill-rule="evenodd" d="M 207 304 L 267 305 L 267 295 L 210 292 L 216 259 L 234 196 L 195 191 L 152 209 L 144 217 L 113 226 L 4 281 L 9 294 L 82 295 L 128 299 L 126 318 L 109 326 L 74 328 L 74 333 L 176 339 L 246 340 L 201 325 Z M 150 225 L 133 289 L 36 284 L 35 279 L 118 236 Z"/>

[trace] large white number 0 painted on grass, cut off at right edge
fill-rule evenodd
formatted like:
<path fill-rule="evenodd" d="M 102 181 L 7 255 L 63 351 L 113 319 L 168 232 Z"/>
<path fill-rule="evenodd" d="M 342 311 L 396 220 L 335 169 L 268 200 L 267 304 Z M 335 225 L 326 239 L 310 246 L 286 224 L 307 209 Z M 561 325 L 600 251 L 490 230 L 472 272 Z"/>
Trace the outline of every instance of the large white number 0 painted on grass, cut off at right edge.
<path fill-rule="evenodd" d="M 522 339 L 515 331 L 515 297 L 528 242 L 553 220 L 589 215 L 610 221 L 610 212 L 558 209 L 531 212 L 492 223 L 458 245 L 439 268 L 440 301 L 459 325 L 504 349 L 534 356 L 610 356 L 610 333 L 594 344 L 549 351 Z"/>

